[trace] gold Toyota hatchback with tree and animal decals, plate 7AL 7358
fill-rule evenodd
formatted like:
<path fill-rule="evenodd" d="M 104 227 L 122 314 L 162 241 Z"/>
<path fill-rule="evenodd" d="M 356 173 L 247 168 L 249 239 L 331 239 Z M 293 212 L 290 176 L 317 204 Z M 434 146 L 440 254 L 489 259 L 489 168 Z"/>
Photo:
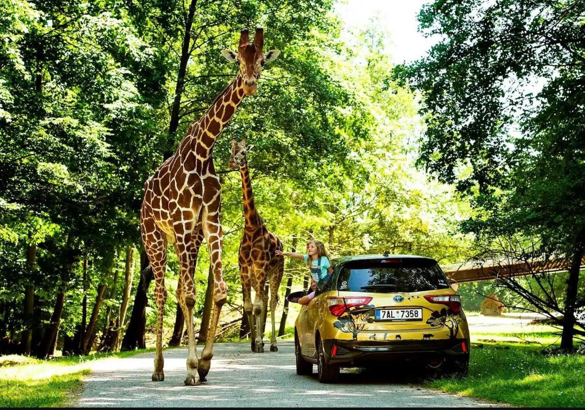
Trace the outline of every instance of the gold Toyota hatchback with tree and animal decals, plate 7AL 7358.
<path fill-rule="evenodd" d="M 295 322 L 297 374 L 335 381 L 340 367 L 409 361 L 464 376 L 469 328 L 461 299 L 434 259 L 361 255 L 333 274 Z"/>

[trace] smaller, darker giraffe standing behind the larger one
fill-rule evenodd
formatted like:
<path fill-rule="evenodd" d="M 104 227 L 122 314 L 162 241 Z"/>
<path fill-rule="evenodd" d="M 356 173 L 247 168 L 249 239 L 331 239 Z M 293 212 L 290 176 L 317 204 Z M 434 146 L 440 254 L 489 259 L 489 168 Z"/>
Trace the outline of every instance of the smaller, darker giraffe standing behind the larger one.
<path fill-rule="evenodd" d="M 267 279 L 270 282 L 270 312 L 272 315 L 270 352 L 277 352 L 274 310 L 276 309 L 278 287 L 283 278 L 284 257 L 277 256 L 275 251 L 277 249 L 283 250 L 283 244 L 276 235 L 266 228 L 254 205 L 246 159 L 246 151 L 251 148 L 252 146 L 246 147 L 246 139 L 239 143 L 232 140 L 232 152 L 228 164 L 229 168 L 239 166 L 242 175 L 245 226 L 242 242 L 240 242 L 238 263 L 243 284 L 244 310 L 252 330 L 252 352 L 264 352 L 262 339 L 264 337 L 264 321 L 266 320 L 265 306 L 268 299 L 264 284 L 266 284 Z M 254 305 L 252 305 L 252 297 L 250 296 L 250 288 L 252 287 L 256 292 Z"/>

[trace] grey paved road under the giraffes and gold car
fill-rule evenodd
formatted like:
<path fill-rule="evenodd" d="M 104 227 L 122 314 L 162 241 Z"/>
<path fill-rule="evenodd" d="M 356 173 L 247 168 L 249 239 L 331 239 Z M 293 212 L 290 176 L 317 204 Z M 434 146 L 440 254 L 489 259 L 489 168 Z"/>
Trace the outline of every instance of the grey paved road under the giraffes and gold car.
<path fill-rule="evenodd" d="M 391 376 L 342 370 L 336 384 L 321 384 L 316 374 L 298 376 L 294 344 L 283 341 L 278 352 L 254 354 L 249 343 L 218 343 L 207 383 L 183 385 L 186 349 L 164 352 L 163 382 L 150 380 L 154 353 L 99 361 L 78 406 L 373 406 L 469 407 L 486 402 L 426 390 L 408 383 L 401 372 Z M 201 349 L 199 349 L 200 351 Z M 314 367 L 316 371 L 316 366 Z M 412 377 L 412 376 L 408 376 Z"/>

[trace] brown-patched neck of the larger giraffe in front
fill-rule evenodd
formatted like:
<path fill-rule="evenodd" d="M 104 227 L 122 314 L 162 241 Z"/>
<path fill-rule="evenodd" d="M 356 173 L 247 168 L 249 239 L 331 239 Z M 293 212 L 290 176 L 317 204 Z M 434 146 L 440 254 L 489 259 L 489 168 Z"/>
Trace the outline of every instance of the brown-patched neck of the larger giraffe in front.
<path fill-rule="evenodd" d="M 240 73 L 215 99 L 207 112 L 189 127 L 191 149 L 200 160 L 211 157 L 215 140 L 232 118 L 244 99 L 243 81 Z M 199 128 L 199 132 L 197 132 Z"/>

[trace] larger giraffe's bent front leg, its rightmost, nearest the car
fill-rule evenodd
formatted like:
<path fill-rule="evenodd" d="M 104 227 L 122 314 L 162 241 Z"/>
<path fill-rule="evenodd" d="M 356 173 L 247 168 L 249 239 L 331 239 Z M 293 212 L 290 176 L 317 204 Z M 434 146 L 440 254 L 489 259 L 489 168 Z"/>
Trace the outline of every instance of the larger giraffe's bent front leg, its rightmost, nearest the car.
<path fill-rule="evenodd" d="M 217 201 L 219 201 L 219 192 L 217 195 Z M 204 209 L 204 223 L 203 233 L 207 240 L 207 247 L 209 250 L 209 259 L 211 260 L 211 266 L 214 274 L 214 314 L 209 323 L 209 330 L 207 334 L 207 342 L 201 353 L 201 360 L 199 360 L 199 376 L 205 377 L 209 373 L 211 367 L 211 359 L 214 356 L 214 340 L 215 332 L 217 330 L 219 315 L 221 308 L 228 299 L 228 287 L 223 280 L 223 267 L 222 267 L 222 237 L 223 231 L 221 223 L 219 222 L 219 204 L 217 209 Z"/>

